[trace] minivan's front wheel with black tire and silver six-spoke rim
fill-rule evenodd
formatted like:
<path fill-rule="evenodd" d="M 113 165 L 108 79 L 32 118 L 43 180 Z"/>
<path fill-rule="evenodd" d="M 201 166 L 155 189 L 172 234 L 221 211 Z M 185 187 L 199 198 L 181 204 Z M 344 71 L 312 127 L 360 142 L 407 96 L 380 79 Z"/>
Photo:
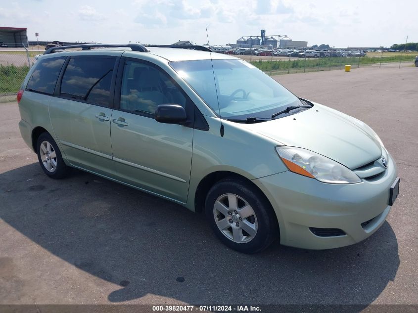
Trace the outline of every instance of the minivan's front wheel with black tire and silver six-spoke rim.
<path fill-rule="evenodd" d="M 279 237 L 271 204 L 243 179 L 229 177 L 212 186 L 206 196 L 205 214 L 218 238 L 241 253 L 260 252 Z"/>

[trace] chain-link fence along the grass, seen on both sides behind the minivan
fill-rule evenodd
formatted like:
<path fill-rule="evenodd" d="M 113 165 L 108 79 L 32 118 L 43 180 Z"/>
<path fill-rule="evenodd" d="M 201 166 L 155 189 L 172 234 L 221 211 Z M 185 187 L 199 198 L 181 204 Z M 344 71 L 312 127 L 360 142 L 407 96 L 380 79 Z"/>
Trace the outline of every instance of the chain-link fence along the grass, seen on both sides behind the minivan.
<path fill-rule="evenodd" d="M 35 63 L 35 56 L 44 53 L 44 47 L 0 47 L 0 102 L 16 99 L 16 93 Z M 322 55 L 303 51 L 290 52 L 289 56 L 280 56 L 277 50 L 267 50 L 256 55 L 255 51 L 248 55 L 236 55 L 269 75 L 305 73 L 314 71 L 344 70 L 345 65 L 351 69 L 365 66 L 372 67 L 409 67 L 414 66 L 418 52 L 366 52 L 350 51 L 344 53 L 329 53 Z M 302 54 L 300 54 L 302 53 Z M 358 54 L 358 55 L 356 55 Z"/>

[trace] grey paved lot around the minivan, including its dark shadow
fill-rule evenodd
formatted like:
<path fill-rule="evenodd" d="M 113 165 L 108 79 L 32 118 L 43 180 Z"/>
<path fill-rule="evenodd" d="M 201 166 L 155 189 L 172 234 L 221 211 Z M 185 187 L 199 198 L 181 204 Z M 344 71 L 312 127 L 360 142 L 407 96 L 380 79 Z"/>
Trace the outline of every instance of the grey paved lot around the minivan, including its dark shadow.
<path fill-rule="evenodd" d="M 362 119 L 395 157 L 401 193 L 372 237 L 239 254 L 178 205 L 78 171 L 47 179 L 17 104 L 0 104 L 0 304 L 418 304 L 418 69 L 277 79 Z"/>

